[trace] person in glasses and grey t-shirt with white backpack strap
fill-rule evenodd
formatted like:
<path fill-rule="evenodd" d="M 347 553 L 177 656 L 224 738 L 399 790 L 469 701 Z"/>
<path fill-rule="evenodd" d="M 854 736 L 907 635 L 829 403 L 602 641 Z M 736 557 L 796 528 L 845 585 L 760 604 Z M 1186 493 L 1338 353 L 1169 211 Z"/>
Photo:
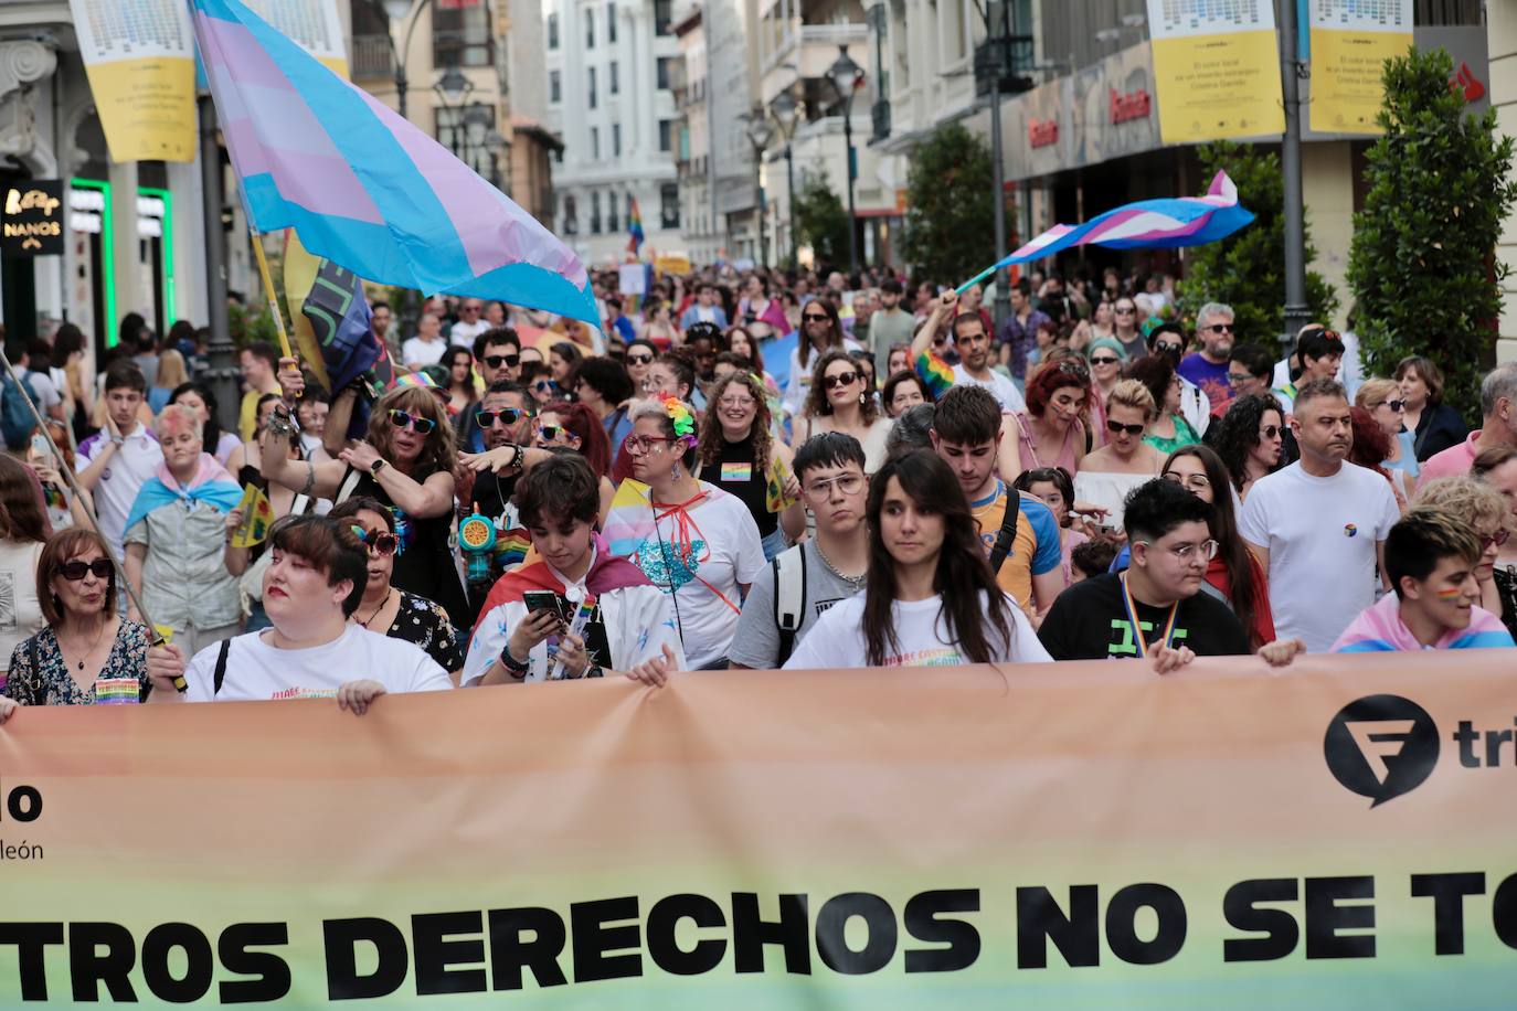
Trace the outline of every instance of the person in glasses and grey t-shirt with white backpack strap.
<path fill-rule="evenodd" d="M 813 435 L 795 450 L 795 479 L 816 515 L 816 537 L 783 552 L 754 579 L 728 652 L 734 670 L 783 665 L 828 608 L 863 588 L 869 564 L 863 467 L 859 440 L 842 432 Z M 781 577 L 792 571 L 798 574 Z M 777 600 L 789 587 L 799 593 Z"/>

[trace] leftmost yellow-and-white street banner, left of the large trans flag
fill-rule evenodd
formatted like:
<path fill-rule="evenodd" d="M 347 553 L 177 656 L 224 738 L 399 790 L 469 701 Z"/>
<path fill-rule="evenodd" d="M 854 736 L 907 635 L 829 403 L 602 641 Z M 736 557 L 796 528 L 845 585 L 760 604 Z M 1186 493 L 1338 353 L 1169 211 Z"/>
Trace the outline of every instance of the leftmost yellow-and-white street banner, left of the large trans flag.
<path fill-rule="evenodd" d="M 194 33 L 184 0 L 70 0 L 111 161 L 196 156 Z"/>

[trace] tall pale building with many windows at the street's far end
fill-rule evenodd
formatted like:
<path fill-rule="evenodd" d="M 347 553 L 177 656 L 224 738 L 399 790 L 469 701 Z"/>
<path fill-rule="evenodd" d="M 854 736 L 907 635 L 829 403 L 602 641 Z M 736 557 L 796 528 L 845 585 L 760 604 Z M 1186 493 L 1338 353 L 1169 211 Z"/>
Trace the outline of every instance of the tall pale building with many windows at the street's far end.
<path fill-rule="evenodd" d="M 671 0 L 548 0 L 543 15 L 555 230 L 587 264 L 622 262 L 636 202 L 643 253 L 677 249 Z"/>

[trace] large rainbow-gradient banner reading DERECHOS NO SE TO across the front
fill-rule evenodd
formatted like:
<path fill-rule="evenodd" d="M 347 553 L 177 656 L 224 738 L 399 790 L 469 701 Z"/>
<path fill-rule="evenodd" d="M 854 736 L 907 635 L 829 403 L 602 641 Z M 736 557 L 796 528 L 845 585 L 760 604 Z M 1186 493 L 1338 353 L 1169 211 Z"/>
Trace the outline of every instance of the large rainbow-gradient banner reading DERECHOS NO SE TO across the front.
<path fill-rule="evenodd" d="M 23 709 L 0 1006 L 1509 1006 L 1511 662 Z"/>

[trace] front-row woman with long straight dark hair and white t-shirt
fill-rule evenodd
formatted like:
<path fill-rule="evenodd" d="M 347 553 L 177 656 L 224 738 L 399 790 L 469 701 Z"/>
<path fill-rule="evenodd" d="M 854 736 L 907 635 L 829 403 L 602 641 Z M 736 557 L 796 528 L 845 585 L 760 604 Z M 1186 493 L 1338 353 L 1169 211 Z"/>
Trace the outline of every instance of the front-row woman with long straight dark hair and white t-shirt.
<path fill-rule="evenodd" d="M 822 615 L 786 668 L 1042 662 L 1018 602 L 985 561 L 969 502 L 941 456 L 892 458 L 865 506 L 865 590 Z"/>

